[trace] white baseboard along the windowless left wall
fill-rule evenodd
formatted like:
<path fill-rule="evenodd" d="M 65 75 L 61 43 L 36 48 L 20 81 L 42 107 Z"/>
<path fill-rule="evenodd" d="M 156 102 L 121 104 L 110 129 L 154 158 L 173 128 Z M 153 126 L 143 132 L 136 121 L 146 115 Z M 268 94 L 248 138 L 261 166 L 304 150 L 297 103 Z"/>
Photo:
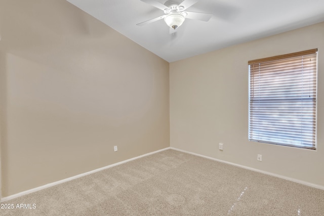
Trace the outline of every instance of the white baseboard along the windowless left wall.
<path fill-rule="evenodd" d="M 14 198 L 26 195 L 26 194 L 30 194 L 30 193 L 39 191 L 39 190 L 43 190 L 45 188 L 49 188 L 49 187 L 52 187 L 52 186 L 55 186 L 55 185 L 59 185 L 59 184 L 62 184 L 64 182 L 68 182 L 68 181 L 71 181 L 71 180 L 74 180 L 74 179 L 78 179 L 80 177 L 84 177 L 84 176 L 93 174 L 95 172 L 98 172 L 98 171 L 101 171 L 101 170 L 104 170 L 104 169 L 107 169 L 107 168 L 110 168 L 110 167 L 113 167 L 113 166 L 116 166 L 116 165 L 120 165 L 120 164 L 123 164 L 123 163 L 127 163 L 129 161 L 136 160 L 136 159 L 139 159 L 141 157 L 145 157 L 145 156 L 155 154 L 155 153 L 158 153 L 158 152 L 161 152 L 161 151 L 165 151 L 165 150 L 168 150 L 168 149 L 170 149 L 170 147 L 165 148 L 165 149 L 160 149 L 160 150 L 157 150 L 157 151 L 154 151 L 154 152 L 150 152 L 150 153 L 147 153 L 147 154 L 143 154 L 143 155 L 140 155 L 140 156 L 137 156 L 137 157 L 133 157 L 133 158 L 128 159 L 128 160 L 120 161 L 118 163 L 114 163 L 114 164 L 111 164 L 111 165 L 108 165 L 108 166 L 104 166 L 104 167 L 101 167 L 101 168 L 98 168 L 98 169 L 94 169 L 94 170 L 91 170 L 89 172 L 85 172 L 83 174 L 72 176 L 72 177 L 67 178 L 67 179 L 63 179 L 63 180 L 60 180 L 60 181 L 57 181 L 57 182 L 49 183 L 47 185 L 43 185 L 43 186 L 33 188 L 33 189 L 30 189 L 30 190 L 27 190 L 27 191 L 23 191 L 23 192 L 13 194 L 13 195 L 10 195 L 10 196 L 7 196 L 7 197 L 2 197 L 1 202 L 8 201 L 8 200 L 11 200 L 11 199 L 14 199 Z"/>

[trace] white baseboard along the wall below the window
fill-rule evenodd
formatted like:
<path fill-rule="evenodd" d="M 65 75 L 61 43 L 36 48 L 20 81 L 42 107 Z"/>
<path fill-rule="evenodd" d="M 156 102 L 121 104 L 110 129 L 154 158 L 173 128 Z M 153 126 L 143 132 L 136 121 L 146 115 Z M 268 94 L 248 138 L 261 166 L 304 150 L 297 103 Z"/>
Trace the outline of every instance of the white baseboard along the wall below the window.
<path fill-rule="evenodd" d="M 252 167 L 249 167 L 249 166 L 239 165 L 239 164 L 236 164 L 236 163 L 231 163 L 231 162 L 228 162 L 228 161 L 225 161 L 225 160 L 219 160 L 219 159 L 216 159 L 216 158 L 213 158 L 213 157 L 208 157 L 208 156 L 205 156 L 205 155 L 196 154 L 196 153 L 193 153 L 193 152 L 189 152 L 189 151 L 185 151 L 185 150 L 181 150 L 181 149 L 177 149 L 177 148 L 173 148 L 173 147 L 170 147 L 170 148 L 173 149 L 173 150 L 176 150 L 176 151 L 181 151 L 181 152 L 192 154 L 192 155 L 195 155 L 195 156 L 204 157 L 204 158 L 215 160 L 215 161 L 218 161 L 218 162 L 221 162 L 221 163 L 227 163 L 227 164 L 230 164 L 230 165 L 233 165 L 233 166 L 238 166 L 238 167 L 249 169 L 249 170 L 256 171 L 256 172 L 261 172 L 262 174 L 266 174 L 266 175 L 269 175 L 269 176 L 277 177 L 277 178 L 280 178 L 280 179 L 285 179 L 285 180 L 288 180 L 288 181 L 291 181 L 291 182 L 295 182 L 295 183 L 299 183 L 299 184 L 302 184 L 302 185 L 307 185 L 307 186 L 310 186 L 310 187 L 313 187 L 313 188 L 324 190 L 324 186 L 322 186 L 322 185 L 316 185 L 316 184 L 313 184 L 313 183 L 310 183 L 310 182 L 301 181 L 301 180 L 290 178 L 290 177 L 287 177 L 287 176 L 281 176 L 281 175 L 278 175 L 278 174 L 274 174 L 272 172 L 263 171 L 263 170 L 252 168 Z"/>

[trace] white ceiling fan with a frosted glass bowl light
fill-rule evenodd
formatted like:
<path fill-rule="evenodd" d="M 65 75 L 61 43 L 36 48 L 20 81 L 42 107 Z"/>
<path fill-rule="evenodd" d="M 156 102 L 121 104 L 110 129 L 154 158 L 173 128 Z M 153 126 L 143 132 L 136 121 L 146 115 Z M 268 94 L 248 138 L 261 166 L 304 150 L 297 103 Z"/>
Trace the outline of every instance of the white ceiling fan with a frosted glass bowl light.
<path fill-rule="evenodd" d="M 141 0 L 155 8 L 163 10 L 165 15 L 156 17 L 145 22 L 138 23 L 137 25 L 142 26 L 148 23 L 164 19 L 168 26 L 172 29 L 176 29 L 182 25 L 186 18 L 193 20 L 209 21 L 212 14 L 200 13 L 200 12 L 189 12 L 185 11 L 199 0 L 168 0 L 165 4 L 157 2 L 156 0 Z"/>

